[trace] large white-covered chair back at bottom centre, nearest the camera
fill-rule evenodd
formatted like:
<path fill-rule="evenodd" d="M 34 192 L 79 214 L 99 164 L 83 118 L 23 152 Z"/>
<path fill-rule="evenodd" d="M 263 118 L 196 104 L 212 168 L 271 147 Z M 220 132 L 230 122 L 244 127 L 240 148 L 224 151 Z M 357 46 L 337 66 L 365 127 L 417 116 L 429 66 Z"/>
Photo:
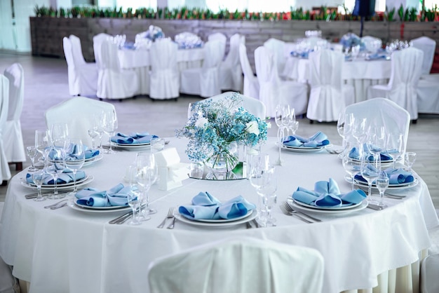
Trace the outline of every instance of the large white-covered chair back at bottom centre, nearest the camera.
<path fill-rule="evenodd" d="M 151 293 L 318 293 L 323 265 L 313 248 L 236 237 L 161 257 L 148 280 Z"/>

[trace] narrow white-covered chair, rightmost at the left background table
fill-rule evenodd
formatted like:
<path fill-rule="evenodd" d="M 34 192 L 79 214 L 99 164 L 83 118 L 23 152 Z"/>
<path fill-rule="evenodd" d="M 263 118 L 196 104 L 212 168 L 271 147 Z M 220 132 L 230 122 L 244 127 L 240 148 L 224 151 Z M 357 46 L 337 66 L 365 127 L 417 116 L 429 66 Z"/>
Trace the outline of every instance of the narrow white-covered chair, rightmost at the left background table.
<path fill-rule="evenodd" d="M 239 63 L 240 44 L 245 44 L 245 36 L 234 34 L 230 37 L 229 53 L 219 65 L 219 85 L 222 90 L 241 92 L 243 88 L 243 70 Z"/>

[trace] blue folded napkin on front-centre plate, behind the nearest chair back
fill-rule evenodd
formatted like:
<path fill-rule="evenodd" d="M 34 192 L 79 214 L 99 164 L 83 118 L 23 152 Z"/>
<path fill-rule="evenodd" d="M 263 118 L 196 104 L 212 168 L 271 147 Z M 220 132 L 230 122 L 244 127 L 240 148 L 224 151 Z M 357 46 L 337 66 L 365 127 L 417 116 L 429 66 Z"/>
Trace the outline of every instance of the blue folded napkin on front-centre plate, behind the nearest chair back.
<path fill-rule="evenodd" d="M 256 205 L 249 203 L 242 196 L 236 196 L 225 203 L 208 192 L 200 192 L 192 198 L 191 205 L 182 205 L 178 212 L 188 219 L 234 219 L 242 217 Z"/>

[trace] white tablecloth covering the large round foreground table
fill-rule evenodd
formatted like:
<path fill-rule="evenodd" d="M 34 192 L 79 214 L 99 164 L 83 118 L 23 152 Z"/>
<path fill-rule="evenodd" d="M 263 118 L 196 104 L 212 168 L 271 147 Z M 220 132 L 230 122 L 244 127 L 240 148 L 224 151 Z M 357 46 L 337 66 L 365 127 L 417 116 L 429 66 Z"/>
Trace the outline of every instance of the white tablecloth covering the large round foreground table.
<path fill-rule="evenodd" d="M 311 135 L 311 134 L 309 134 Z M 274 161 L 274 139 L 262 146 Z M 182 158 L 185 139 L 170 139 Z M 95 178 L 88 186 L 109 189 L 123 182 L 135 151 L 119 151 L 84 170 Z M 303 186 L 313 189 L 319 180 L 335 179 L 342 192 L 349 191 L 345 172 L 336 155 L 326 151 L 295 153 L 283 151 L 284 165 L 276 167 L 278 201 Z M 158 210 L 140 226 L 111 225 L 119 213 L 81 212 L 71 207 L 44 209 L 53 200 L 26 200 L 32 193 L 20 184 L 25 171 L 11 180 L 0 226 L 0 255 L 13 265 L 13 274 L 30 282 L 31 292 L 148 292 L 147 268 L 151 261 L 189 247 L 229 236 L 249 236 L 304 245 L 319 250 L 325 258 L 325 292 L 371 288 L 377 275 L 393 268 L 417 263 L 419 252 L 430 246 L 428 229 L 438 226 L 430 194 L 424 181 L 398 191 L 403 200 L 385 198 L 388 208 L 347 214 L 318 214 L 321 223 L 306 224 L 286 216 L 278 207 L 273 214 L 276 227 L 245 229 L 245 224 L 215 228 L 178 222 L 174 230 L 157 229 L 169 207 L 190 203 L 200 191 L 209 191 L 219 200 L 242 195 L 257 203 L 258 197 L 247 179 L 208 181 L 186 179 L 170 191 L 151 189 L 151 205 Z M 393 191 L 396 192 L 396 191 Z M 169 223 L 170 221 L 168 221 Z M 416 273 L 414 273 L 416 275 Z M 412 291 L 417 279 L 403 284 L 397 292 Z M 409 285 L 407 285 L 409 284 Z"/>

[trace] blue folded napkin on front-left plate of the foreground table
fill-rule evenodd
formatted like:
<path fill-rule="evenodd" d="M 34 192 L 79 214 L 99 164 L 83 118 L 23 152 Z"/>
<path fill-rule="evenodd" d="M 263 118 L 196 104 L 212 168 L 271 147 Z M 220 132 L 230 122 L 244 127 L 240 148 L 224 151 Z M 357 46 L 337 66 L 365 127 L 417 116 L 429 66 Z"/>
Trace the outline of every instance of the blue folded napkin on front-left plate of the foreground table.
<path fill-rule="evenodd" d="M 119 183 L 107 191 L 88 187 L 76 193 L 76 203 L 78 205 L 88 205 L 89 207 L 111 207 L 128 205 L 128 193 L 131 192 L 130 186 L 123 186 Z"/>

